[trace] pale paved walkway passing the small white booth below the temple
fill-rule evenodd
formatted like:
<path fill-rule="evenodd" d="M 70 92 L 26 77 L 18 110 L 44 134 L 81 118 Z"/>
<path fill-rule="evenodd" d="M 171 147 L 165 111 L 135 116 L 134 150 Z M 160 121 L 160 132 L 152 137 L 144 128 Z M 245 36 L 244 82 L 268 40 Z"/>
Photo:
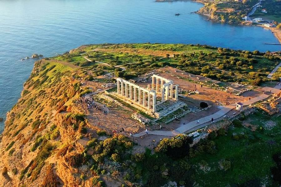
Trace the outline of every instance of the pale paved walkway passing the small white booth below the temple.
<path fill-rule="evenodd" d="M 250 104 L 253 104 L 255 102 L 258 102 L 258 101 L 261 101 L 265 98 L 268 98 L 269 95 L 267 94 L 261 94 L 259 95 L 258 97 L 255 97 L 255 98 L 251 98 L 251 100 L 249 101 L 245 101 L 243 103 L 244 106 L 248 106 Z M 199 126 L 199 125 L 202 125 L 204 123 L 207 123 L 207 122 L 210 122 L 212 118 L 215 119 L 218 119 L 220 117 L 223 117 L 225 114 L 227 114 L 229 111 L 231 111 L 232 109 L 236 108 L 236 104 L 231 104 L 231 105 L 225 105 L 221 110 L 219 110 L 218 112 L 212 114 L 212 115 L 209 115 L 209 116 L 205 116 L 205 117 L 202 117 L 199 119 L 199 124 L 197 123 L 197 120 L 194 120 L 192 122 L 189 122 L 185 125 L 182 125 L 181 127 L 179 128 L 176 128 L 175 130 L 173 131 L 149 131 L 148 130 L 148 134 L 152 134 L 152 135 L 159 135 L 159 136 L 170 136 L 170 137 L 173 137 L 173 136 L 176 136 L 176 135 L 179 135 L 179 134 L 182 134 L 182 133 L 185 133 L 186 131 L 196 127 L 196 126 Z M 145 131 L 143 132 L 140 132 L 140 133 L 137 133 L 137 134 L 134 134 L 133 136 L 134 137 L 141 137 L 145 135 Z"/>

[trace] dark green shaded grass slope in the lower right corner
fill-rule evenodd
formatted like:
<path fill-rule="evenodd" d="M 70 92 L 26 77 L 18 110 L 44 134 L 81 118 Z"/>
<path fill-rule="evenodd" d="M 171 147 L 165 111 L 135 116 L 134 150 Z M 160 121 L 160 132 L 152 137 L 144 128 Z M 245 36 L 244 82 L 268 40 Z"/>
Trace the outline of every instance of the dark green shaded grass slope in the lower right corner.
<path fill-rule="evenodd" d="M 196 169 L 195 180 L 200 186 L 228 186 L 229 184 L 242 184 L 247 180 L 258 179 L 271 184 L 270 168 L 275 165 L 272 155 L 281 151 L 281 117 L 267 117 L 260 113 L 248 116 L 248 121 L 262 126 L 268 120 L 279 123 L 271 131 L 252 132 L 246 127 L 235 127 L 228 131 L 227 136 L 215 139 L 218 152 L 214 155 L 201 154 L 191 159 L 191 163 L 198 165 L 205 160 L 211 170 L 207 173 Z M 234 140 L 233 133 L 244 133 L 248 138 Z M 274 141 L 274 144 L 269 144 Z M 227 171 L 219 169 L 218 162 L 222 159 L 231 161 L 231 168 Z"/>

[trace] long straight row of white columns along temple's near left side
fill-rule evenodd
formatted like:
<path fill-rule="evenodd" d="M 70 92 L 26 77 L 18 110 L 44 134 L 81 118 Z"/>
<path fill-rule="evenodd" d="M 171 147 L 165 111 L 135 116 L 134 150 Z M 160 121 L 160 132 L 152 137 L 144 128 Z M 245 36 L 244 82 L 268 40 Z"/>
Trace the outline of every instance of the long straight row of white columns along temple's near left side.
<path fill-rule="evenodd" d="M 120 85 L 121 85 L 121 89 L 120 89 Z M 125 90 L 124 90 L 124 86 L 125 86 Z M 137 97 L 137 90 L 138 90 L 138 97 Z M 142 107 L 147 108 L 148 110 L 152 110 L 152 112 L 156 111 L 156 92 L 154 90 L 148 90 L 140 87 L 139 85 L 118 78 L 117 93 L 124 96 L 125 98 L 129 99 L 134 103 L 142 105 Z M 151 108 L 151 103 L 152 103 L 152 108 Z"/>

